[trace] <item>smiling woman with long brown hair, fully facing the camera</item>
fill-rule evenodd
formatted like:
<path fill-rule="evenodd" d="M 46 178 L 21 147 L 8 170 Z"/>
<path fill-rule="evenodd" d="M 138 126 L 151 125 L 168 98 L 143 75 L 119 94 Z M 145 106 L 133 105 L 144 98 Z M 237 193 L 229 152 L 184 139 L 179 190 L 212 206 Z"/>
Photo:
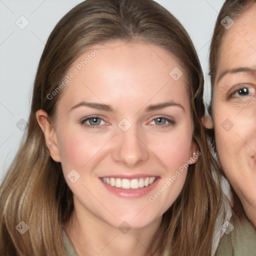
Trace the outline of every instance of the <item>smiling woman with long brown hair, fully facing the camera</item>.
<path fill-rule="evenodd" d="M 75 6 L 47 40 L 0 187 L 0 254 L 210 256 L 223 207 L 202 95 L 193 45 L 159 4 Z"/>

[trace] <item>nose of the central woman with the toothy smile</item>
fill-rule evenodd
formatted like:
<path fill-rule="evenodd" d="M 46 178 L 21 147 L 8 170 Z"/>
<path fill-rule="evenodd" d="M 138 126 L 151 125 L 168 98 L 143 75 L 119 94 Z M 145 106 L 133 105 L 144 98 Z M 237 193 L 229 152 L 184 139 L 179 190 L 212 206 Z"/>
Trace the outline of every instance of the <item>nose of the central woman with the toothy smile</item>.
<path fill-rule="evenodd" d="M 131 126 L 127 131 L 119 130 L 116 134 L 112 157 L 114 161 L 132 168 L 148 159 L 149 148 L 141 134 Z"/>

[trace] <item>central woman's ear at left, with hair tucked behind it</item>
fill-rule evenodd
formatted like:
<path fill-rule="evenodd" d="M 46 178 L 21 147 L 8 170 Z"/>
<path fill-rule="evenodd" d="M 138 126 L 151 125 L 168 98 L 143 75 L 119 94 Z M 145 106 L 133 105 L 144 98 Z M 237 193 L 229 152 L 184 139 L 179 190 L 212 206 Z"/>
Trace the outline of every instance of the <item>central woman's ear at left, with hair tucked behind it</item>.
<path fill-rule="evenodd" d="M 56 132 L 54 127 L 48 122 L 48 114 L 44 110 L 39 109 L 36 111 L 35 116 L 44 134 L 45 142 L 51 158 L 56 162 L 60 162 Z"/>

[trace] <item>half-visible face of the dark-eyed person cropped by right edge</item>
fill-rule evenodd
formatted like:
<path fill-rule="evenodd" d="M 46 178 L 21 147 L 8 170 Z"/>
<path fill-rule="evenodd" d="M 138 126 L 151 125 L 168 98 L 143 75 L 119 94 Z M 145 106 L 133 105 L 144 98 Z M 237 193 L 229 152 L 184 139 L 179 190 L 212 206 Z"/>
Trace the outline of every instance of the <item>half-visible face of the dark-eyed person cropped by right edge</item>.
<path fill-rule="evenodd" d="M 225 31 L 213 87 L 218 157 L 256 225 L 256 4 Z M 254 219 L 254 220 L 253 220 Z"/>

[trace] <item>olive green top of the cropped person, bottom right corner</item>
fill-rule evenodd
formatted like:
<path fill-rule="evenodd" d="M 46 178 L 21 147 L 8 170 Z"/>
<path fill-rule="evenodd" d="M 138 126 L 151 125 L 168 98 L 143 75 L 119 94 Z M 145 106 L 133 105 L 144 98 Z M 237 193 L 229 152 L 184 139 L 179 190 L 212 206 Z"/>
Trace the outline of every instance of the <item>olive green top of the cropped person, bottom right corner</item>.
<path fill-rule="evenodd" d="M 231 221 L 231 220 L 230 220 Z M 256 229 L 247 220 L 231 221 L 231 229 L 224 232 L 216 256 L 255 256 L 256 255 Z M 224 230 L 223 230 L 224 231 Z"/>

